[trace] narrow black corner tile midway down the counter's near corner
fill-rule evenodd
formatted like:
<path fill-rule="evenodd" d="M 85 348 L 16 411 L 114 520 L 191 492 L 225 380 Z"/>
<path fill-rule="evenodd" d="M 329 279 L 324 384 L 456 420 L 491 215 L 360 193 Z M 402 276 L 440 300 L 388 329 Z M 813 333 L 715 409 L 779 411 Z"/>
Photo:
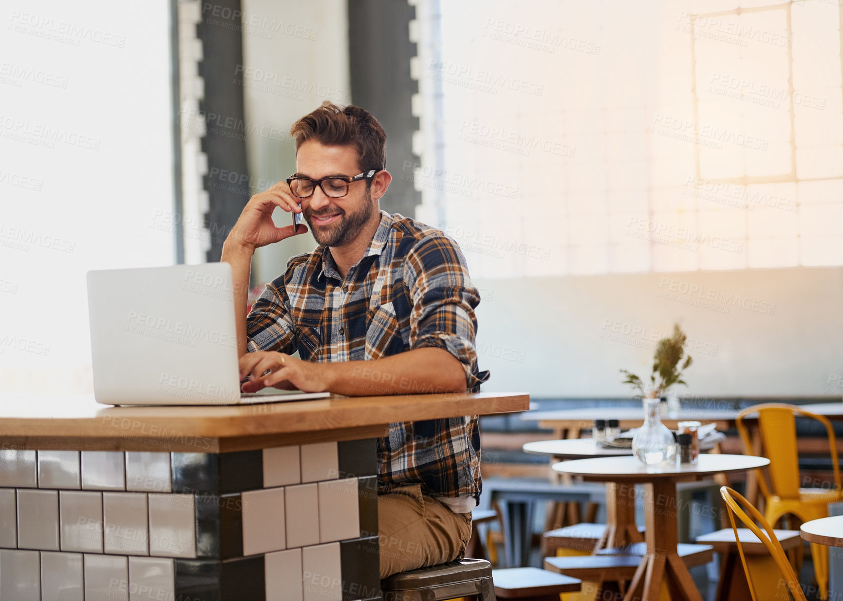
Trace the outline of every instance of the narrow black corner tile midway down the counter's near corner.
<path fill-rule="evenodd" d="M 243 556 L 243 501 L 239 495 L 196 495 L 196 556 Z"/>

